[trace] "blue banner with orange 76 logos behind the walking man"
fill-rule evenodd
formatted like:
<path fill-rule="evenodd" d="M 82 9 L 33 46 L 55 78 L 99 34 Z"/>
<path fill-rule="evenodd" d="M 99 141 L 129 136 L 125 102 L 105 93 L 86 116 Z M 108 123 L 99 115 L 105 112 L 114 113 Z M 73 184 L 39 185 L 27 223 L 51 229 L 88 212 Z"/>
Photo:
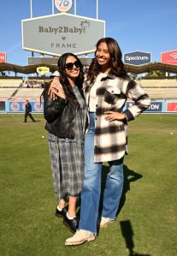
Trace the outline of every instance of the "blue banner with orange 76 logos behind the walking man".
<path fill-rule="evenodd" d="M 9 112 L 25 112 L 25 104 L 23 101 L 10 101 L 9 102 Z M 32 112 L 43 112 L 43 103 L 40 102 L 30 102 L 32 105 Z"/>

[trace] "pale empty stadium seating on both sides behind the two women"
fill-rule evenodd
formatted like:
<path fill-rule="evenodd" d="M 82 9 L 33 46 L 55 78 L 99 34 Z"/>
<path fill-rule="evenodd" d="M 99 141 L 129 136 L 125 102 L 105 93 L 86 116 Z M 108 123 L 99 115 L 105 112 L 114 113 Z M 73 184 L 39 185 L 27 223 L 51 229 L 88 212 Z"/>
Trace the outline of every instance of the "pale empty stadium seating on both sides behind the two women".
<path fill-rule="evenodd" d="M 137 80 L 145 88 L 151 99 L 177 99 L 176 79 Z M 18 98 L 38 99 L 43 92 L 44 80 L 23 81 L 22 79 L 0 79 L 0 98 L 11 100 Z"/>

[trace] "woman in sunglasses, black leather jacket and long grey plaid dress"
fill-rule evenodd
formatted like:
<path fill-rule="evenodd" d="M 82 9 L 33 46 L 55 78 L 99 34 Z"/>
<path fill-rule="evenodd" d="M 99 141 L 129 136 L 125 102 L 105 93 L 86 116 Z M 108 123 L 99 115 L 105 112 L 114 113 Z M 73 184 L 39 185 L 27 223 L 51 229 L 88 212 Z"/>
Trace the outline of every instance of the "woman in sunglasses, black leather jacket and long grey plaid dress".
<path fill-rule="evenodd" d="M 84 80 L 80 59 L 72 53 L 58 61 L 61 86 L 44 88 L 45 128 L 49 131 L 50 163 L 58 205 L 56 216 L 72 232 L 78 228 L 76 202 L 84 180 L 84 135 L 86 103 L 82 92 Z M 50 98 L 50 95 L 55 97 Z M 68 197 L 68 211 L 66 198 Z"/>

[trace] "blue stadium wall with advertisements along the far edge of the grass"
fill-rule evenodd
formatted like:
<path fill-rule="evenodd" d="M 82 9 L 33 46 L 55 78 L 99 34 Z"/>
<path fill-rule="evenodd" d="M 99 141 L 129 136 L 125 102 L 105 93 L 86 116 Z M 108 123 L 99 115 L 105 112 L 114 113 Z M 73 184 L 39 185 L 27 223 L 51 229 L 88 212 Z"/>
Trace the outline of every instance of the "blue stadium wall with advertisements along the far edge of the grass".
<path fill-rule="evenodd" d="M 33 113 L 43 113 L 44 105 L 43 102 L 30 101 L 32 104 Z M 127 101 L 127 108 L 132 101 Z M 24 113 L 25 101 L 9 101 L 0 100 L 0 113 Z M 151 100 L 150 107 L 145 110 L 146 113 L 177 113 L 177 99 L 173 100 Z"/>

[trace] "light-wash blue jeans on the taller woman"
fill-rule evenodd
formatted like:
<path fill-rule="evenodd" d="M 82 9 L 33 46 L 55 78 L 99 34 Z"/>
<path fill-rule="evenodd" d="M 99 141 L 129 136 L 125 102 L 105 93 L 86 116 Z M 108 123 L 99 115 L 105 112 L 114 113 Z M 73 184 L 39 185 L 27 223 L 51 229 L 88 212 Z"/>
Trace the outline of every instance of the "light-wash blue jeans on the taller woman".
<path fill-rule="evenodd" d="M 97 218 L 101 193 L 102 164 L 94 163 L 95 113 L 90 113 L 90 129 L 85 139 L 85 180 L 81 193 L 80 225 L 97 233 Z M 103 217 L 115 219 L 123 189 L 123 158 L 109 162 L 109 173 L 103 192 Z"/>

